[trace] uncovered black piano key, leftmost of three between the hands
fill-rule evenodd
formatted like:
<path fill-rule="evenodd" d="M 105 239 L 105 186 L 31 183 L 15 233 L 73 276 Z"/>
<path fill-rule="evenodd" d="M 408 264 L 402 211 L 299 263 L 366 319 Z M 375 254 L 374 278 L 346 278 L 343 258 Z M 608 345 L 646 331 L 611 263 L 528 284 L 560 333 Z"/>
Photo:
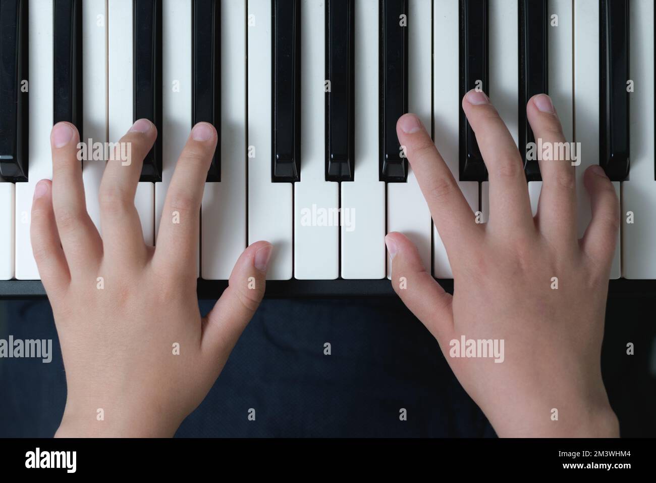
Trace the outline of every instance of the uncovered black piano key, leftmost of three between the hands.
<path fill-rule="evenodd" d="M 271 180 L 300 181 L 300 1 L 273 0 Z"/>

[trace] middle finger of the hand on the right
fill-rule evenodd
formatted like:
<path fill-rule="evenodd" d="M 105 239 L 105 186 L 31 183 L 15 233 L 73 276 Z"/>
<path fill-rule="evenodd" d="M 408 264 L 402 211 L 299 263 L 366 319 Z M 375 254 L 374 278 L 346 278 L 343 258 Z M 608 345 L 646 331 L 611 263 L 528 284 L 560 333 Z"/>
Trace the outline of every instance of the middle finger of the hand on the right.
<path fill-rule="evenodd" d="M 508 127 L 483 92 L 466 93 L 462 109 L 476 134 L 487 168 L 490 206 L 487 229 L 499 228 L 503 233 L 518 228 L 533 229 L 523 162 Z"/>

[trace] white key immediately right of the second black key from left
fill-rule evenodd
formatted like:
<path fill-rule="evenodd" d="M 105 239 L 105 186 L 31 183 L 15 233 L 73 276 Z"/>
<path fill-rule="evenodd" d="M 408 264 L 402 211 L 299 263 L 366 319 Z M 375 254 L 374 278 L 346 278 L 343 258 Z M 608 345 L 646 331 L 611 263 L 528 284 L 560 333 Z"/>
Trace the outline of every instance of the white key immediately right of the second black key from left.
<path fill-rule="evenodd" d="M 82 143 L 87 153 L 94 143 L 107 141 L 107 56 L 105 0 L 85 0 L 82 5 Z M 98 191 L 105 171 L 104 160 L 89 156 L 82 162 L 87 212 L 100 230 Z"/>

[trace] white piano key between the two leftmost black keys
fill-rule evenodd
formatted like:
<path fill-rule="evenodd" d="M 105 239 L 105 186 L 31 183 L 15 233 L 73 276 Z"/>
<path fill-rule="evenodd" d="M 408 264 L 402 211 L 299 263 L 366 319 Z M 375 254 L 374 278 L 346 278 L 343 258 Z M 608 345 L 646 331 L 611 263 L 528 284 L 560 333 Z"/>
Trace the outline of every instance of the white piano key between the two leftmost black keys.
<path fill-rule="evenodd" d="M 38 280 L 32 255 L 30 214 L 34 187 L 52 179 L 52 0 L 30 0 L 30 129 L 27 183 L 16 183 L 16 279 Z"/>

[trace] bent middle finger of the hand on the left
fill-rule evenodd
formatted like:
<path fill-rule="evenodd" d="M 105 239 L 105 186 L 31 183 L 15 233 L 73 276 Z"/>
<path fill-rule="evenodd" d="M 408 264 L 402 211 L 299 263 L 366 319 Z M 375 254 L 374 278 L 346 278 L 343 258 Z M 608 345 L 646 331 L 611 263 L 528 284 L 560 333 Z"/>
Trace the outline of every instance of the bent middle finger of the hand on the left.
<path fill-rule="evenodd" d="M 98 200 L 103 246 L 110 257 L 138 260 L 146 256 L 146 244 L 134 195 L 141 167 L 157 137 L 147 119 L 137 120 L 121 137 L 102 175 Z"/>

